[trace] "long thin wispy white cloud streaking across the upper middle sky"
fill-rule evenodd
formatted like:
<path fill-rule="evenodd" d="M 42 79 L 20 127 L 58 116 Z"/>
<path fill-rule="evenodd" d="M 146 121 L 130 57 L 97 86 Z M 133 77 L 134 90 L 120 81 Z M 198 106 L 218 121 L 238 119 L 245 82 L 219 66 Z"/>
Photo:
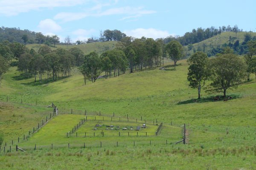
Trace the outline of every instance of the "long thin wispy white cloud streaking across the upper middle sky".
<path fill-rule="evenodd" d="M 97 9 L 101 9 L 102 6 L 108 6 L 108 5 L 99 5 L 99 6 L 95 6 L 93 8 L 91 8 L 89 11 L 93 11 L 93 10 L 97 10 Z M 58 13 L 54 16 L 55 20 L 62 20 L 63 22 L 68 22 L 68 21 L 74 21 L 74 20 L 81 20 L 85 17 L 90 17 L 90 16 L 94 16 L 94 17 L 102 17 L 102 16 L 106 16 L 106 15 L 120 15 L 120 14 L 126 14 L 126 15 L 132 15 L 132 16 L 128 16 L 128 17 L 123 17 L 120 20 L 125 20 L 131 17 L 141 17 L 145 14 L 153 14 L 156 13 L 156 11 L 150 11 L 150 10 L 144 10 L 143 7 L 138 7 L 138 8 L 133 8 L 130 6 L 126 6 L 126 7 L 121 7 L 121 8 L 110 8 L 107 9 L 105 11 L 96 11 L 96 13 L 85 13 L 85 12 L 78 12 L 78 13 L 72 13 L 72 12 L 61 12 Z"/>

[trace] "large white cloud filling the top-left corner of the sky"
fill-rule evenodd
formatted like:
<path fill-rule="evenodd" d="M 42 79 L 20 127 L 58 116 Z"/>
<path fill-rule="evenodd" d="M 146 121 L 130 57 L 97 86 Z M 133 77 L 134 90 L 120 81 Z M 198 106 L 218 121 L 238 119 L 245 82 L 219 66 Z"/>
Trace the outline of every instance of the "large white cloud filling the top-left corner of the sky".
<path fill-rule="evenodd" d="M 88 0 L 0 0 L 0 14 L 17 15 L 21 12 L 63 6 L 76 6 Z"/>

